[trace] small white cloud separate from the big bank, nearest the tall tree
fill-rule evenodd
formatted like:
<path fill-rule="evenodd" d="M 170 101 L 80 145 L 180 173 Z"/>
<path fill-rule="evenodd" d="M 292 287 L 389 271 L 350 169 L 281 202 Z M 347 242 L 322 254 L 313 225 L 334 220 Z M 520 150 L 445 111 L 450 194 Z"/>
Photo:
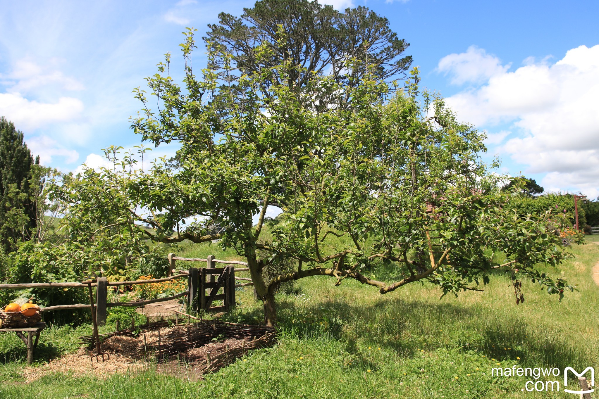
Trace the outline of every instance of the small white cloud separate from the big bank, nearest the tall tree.
<path fill-rule="evenodd" d="M 451 75 L 451 83 L 482 83 L 494 75 L 503 74 L 510 68 L 501 65 L 501 61 L 487 54 L 475 45 L 468 47 L 465 53 L 449 54 L 441 58 L 437 70 Z"/>

